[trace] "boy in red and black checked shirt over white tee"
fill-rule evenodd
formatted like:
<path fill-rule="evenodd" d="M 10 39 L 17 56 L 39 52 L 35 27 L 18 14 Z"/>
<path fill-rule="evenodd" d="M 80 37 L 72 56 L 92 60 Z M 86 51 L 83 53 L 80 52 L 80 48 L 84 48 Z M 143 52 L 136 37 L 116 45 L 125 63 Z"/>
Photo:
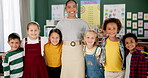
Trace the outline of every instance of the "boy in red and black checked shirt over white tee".
<path fill-rule="evenodd" d="M 123 36 L 123 42 L 127 49 L 125 78 L 146 78 L 147 63 L 144 55 L 135 49 L 137 41 L 135 34 L 128 33 Z"/>

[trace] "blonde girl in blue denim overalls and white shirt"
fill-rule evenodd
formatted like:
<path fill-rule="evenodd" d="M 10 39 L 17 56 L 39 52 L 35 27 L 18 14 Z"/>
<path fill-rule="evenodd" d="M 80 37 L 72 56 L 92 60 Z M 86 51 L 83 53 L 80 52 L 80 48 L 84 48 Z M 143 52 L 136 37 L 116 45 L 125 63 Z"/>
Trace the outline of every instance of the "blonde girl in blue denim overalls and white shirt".
<path fill-rule="evenodd" d="M 94 30 L 87 30 L 84 34 L 86 77 L 104 78 L 104 68 L 98 63 L 101 54 L 101 48 L 97 46 L 98 34 Z"/>

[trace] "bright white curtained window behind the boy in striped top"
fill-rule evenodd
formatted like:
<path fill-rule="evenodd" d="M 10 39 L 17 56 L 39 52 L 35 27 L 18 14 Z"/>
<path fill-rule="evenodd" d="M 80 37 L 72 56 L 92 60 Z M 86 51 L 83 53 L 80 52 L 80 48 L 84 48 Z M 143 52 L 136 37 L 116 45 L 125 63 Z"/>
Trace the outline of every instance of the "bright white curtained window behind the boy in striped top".
<path fill-rule="evenodd" d="M 19 0 L 0 0 L 0 51 L 10 50 L 7 44 L 10 33 L 22 38 Z"/>

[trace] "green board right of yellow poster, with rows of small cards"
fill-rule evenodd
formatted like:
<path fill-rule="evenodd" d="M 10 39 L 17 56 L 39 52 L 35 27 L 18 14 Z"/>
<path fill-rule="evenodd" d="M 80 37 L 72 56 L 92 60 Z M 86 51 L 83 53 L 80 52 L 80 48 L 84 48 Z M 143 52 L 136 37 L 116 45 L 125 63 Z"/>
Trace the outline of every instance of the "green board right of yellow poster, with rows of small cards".
<path fill-rule="evenodd" d="M 132 32 L 137 37 L 148 37 L 148 0 L 101 0 L 100 23 L 103 24 L 104 5 L 125 4 L 125 33 Z"/>

